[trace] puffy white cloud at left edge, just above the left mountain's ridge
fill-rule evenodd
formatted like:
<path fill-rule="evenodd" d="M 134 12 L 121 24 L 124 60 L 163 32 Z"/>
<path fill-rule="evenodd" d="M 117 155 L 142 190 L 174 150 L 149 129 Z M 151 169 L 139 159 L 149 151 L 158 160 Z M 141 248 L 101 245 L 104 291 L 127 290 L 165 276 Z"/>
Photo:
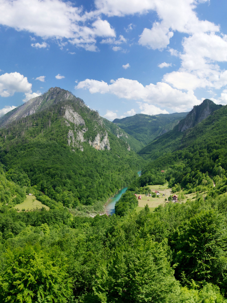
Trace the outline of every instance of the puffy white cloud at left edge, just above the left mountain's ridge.
<path fill-rule="evenodd" d="M 15 92 L 31 92 L 31 86 L 27 77 L 18 72 L 0 75 L 0 95 L 2 97 L 13 96 Z"/>

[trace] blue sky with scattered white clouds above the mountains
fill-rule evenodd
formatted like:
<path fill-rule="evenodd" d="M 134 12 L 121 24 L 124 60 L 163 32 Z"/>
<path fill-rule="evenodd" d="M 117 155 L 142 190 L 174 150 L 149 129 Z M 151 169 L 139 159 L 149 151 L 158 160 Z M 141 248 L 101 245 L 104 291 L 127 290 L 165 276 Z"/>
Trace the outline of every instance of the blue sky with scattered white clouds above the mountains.
<path fill-rule="evenodd" d="M 111 121 L 227 104 L 226 1 L 0 5 L 0 115 L 55 86 Z"/>

